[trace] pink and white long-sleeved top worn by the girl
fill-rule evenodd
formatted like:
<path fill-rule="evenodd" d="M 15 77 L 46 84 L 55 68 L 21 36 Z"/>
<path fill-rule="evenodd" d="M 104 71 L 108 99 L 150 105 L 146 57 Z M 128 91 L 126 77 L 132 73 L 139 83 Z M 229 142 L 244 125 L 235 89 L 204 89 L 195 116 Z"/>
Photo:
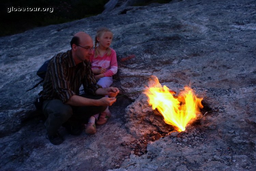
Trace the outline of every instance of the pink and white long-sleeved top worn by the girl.
<path fill-rule="evenodd" d="M 111 54 L 107 56 L 104 54 L 102 57 L 98 55 L 96 58 L 93 55 L 90 57 L 91 61 L 91 69 L 99 69 L 106 68 L 106 72 L 104 72 L 104 76 L 113 76 L 117 73 L 117 59 L 116 59 L 116 51 L 110 48 Z"/>

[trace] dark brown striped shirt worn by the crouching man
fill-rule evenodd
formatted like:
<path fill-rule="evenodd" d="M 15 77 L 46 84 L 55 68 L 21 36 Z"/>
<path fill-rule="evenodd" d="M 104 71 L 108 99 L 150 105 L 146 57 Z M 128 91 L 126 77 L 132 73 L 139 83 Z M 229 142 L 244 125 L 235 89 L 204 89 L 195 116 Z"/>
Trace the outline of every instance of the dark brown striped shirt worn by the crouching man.
<path fill-rule="evenodd" d="M 44 78 L 41 97 L 44 100 L 59 99 L 67 102 L 71 96 L 79 95 L 83 84 L 85 93 L 95 94 L 100 88 L 91 70 L 91 63 L 75 64 L 71 50 L 58 53 L 49 62 Z"/>

